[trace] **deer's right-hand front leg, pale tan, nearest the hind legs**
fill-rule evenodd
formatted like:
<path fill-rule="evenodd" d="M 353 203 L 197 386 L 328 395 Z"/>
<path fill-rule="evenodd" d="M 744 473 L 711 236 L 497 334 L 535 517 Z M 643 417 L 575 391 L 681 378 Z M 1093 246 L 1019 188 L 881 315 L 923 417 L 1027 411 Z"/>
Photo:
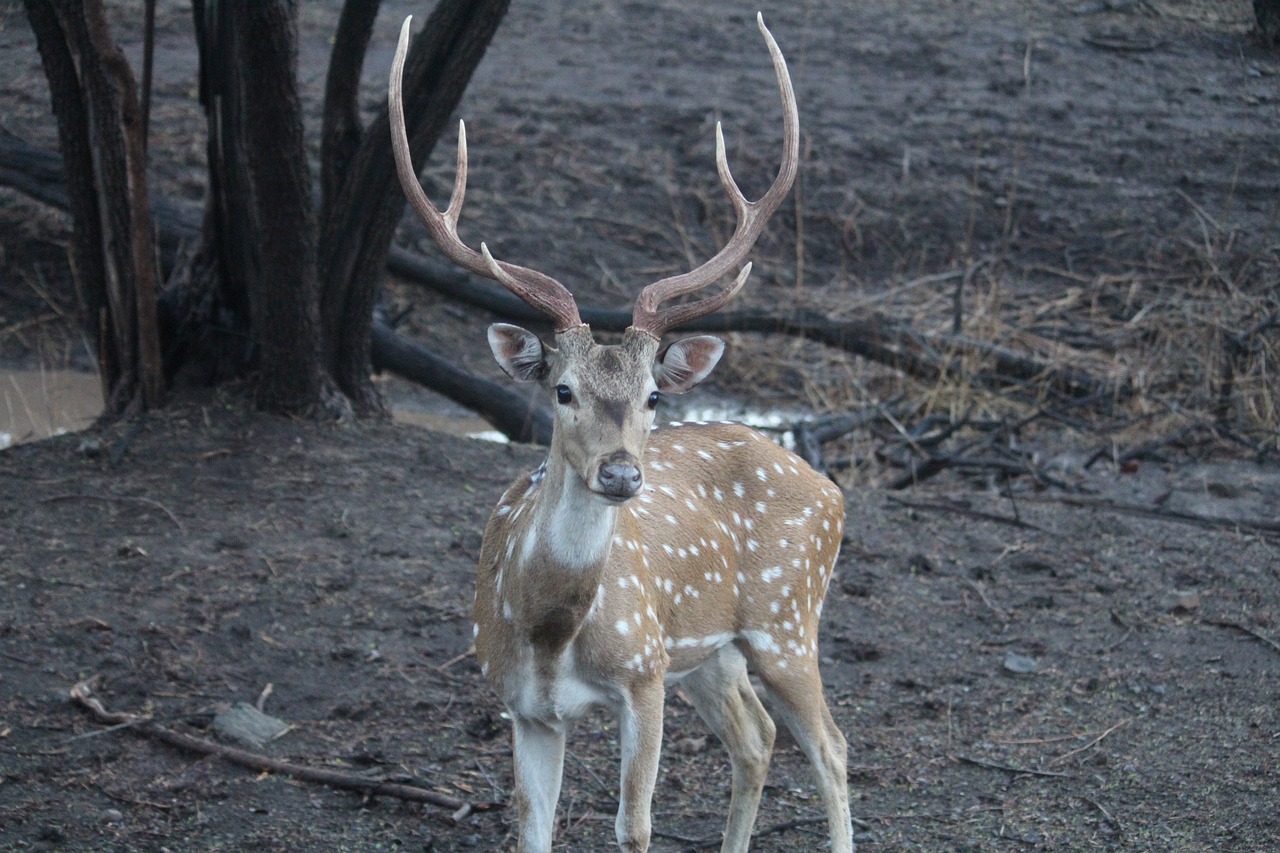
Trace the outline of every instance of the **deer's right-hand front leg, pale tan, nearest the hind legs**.
<path fill-rule="evenodd" d="M 649 808 L 662 753 L 663 694 L 660 678 L 640 681 L 632 685 L 620 715 L 622 784 L 614 829 L 623 853 L 649 849 Z"/>

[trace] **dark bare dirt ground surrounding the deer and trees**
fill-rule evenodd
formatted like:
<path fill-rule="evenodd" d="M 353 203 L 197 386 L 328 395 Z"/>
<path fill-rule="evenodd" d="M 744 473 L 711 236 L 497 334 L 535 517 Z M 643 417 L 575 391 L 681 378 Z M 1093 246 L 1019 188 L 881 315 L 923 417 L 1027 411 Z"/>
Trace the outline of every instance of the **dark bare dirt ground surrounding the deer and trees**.
<path fill-rule="evenodd" d="M 312 97 L 338 5 L 305 4 Z M 116 32 L 136 32 L 140 6 L 119 4 Z M 777 156 L 755 9 L 516 0 L 461 109 L 463 236 L 596 305 L 709 254 L 728 227 L 714 119 L 748 195 Z M 428 9 L 384 4 L 370 104 L 407 12 Z M 1130 378 L 1165 370 L 1146 388 L 1165 410 L 1204 402 L 1208 364 L 1165 368 L 1202 346 L 1179 343 L 1198 327 L 1174 327 L 1170 282 L 1187 295 L 1179 321 L 1275 305 L 1280 56 L 1251 35 L 1244 0 L 764 12 L 795 76 L 805 161 L 748 304 L 929 328 L 951 321 L 952 273 L 975 269 L 969 330 L 1065 342 Z M 156 188 L 198 204 L 189 10 L 163 3 L 159 32 Z M 51 145 L 14 4 L 0 6 L 0 123 Z M 451 161 L 426 165 L 433 197 Z M 0 359 L 84 366 L 65 219 L 0 191 Z M 495 375 L 493 318 L 392 292 L 415 307 L 408 332 Z M 906 384 L 817 346 L 730 343 L 713 388 L 728 398 L 827 411 Z M 1268 382 L 1235 412 L 1254 447 L 1276 443 Z M 874 466 L 842 474 L 849 532 L 822 656 L 860 849 L 1280 849 L 1276 455 L 1198 444 L 1085 467 L 1100 441 L 1129 435 L 1053 423 L 1033 437 L 1052 488 L 947 474 L 888 492 Z M 215 713 L 265 694 L 291 727 L 260 752 L 506 802 L 508 724 L 466 654 L 471 584 L 489 507 L 541 455 L 273 419 L 234 387 L 0 452 L 0 848 L 509 848 L 508 811 L 454 825 L 448 809 L 247 771 L 105 726 L 68 690 L 101 675 L 111 711 L 211 740 Z M 654 849 L 714 847 L 727 760 L 678 695 L 666 731 Z M 589 716 L 558 849 L 611 849 L 616 767 L 613 721 Z M 754 849 L 823 849 L 820 813 L 781 742 Z"/>

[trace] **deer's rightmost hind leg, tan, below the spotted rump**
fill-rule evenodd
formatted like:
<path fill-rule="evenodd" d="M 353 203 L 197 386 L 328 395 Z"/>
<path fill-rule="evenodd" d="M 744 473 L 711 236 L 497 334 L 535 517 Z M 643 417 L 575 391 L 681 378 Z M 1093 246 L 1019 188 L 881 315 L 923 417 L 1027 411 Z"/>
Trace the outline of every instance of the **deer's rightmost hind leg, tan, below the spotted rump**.
<path fill-rule="evenodd" d="M 801 666 L 759 661 L 769 708 L 787 726 L 813 767 L 818 793 L 827 809 L 833 853 L 852 853 L 854 827 L 849 813 L 847 744 L 822 693 L 815 660 Z M 799 663 L 799 661 L 796 661 Z"/>

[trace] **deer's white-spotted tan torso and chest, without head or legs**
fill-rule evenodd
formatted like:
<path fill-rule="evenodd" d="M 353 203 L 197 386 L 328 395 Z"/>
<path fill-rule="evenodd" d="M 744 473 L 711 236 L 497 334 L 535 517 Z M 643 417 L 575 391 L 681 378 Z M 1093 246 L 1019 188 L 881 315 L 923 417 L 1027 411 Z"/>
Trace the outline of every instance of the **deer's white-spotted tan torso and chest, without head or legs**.
<path fill-rule="evenodd" d="M 621 685 L 678 681 L 730 644 L 778 678 L 817 669 L 840 489 L 733 424 L 655 429 L 643 464 L 645 487 L 621 507 L 573 497 L 544 465 L 494 510 L 476 654 L 513 711 L 554 724 L 617 706 Z M 556 539 L 584 528 L 594 547 L 561 558 Z"/>

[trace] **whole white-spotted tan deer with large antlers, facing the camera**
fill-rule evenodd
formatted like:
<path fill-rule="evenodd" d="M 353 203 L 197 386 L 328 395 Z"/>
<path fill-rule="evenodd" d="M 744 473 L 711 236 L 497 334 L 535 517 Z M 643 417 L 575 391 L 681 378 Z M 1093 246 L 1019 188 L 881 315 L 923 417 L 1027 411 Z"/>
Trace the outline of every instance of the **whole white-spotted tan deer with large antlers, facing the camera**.
<path fill-rule="evenodd" d="M 840 489 L 746 426 L 654 426 L 659 394 L 701 382 L 724 347 L 696 336 L 659 348 L 663 332 L 726 305 L 751 265 L 710 295 L 663 304 L 742 264 L 795 179 L 799 115 L 777 42 L 758 17 L 782 95 L 783 155 L 772 187 L 748 201 L 730 174 L 717 124 L 717 170 L 737 214 L 732 237 L 698 269 L 645 287 L 622 342 L 599 345 L 559 282 L 460 240 L 467 175 L 461 123 L 449 206 L 440 213 L 422 192 L 401 92 L 410 23 L 401 29 L 388 97 L 410 204 L 454 264 L 500 282 L 556 323 L 554 347 L 515 325 L 489 327 L 502 369 L 541 383 L 554 398 L 547 461 L 498 502 L 476 581 L 476 657 L 515 729 L 518 849 L 550 849 L 566 731 L 596 704 L 620 717 L 618 845 L 648 849 L 664 685 L 678 684 L 731 756 L 721 849 L 746 850 L 776 731 L 750 666 L 813 765 L 832 849 L 849 853 L 845 738 L 818 672 L 818 619 L 844 532 Z"/>

